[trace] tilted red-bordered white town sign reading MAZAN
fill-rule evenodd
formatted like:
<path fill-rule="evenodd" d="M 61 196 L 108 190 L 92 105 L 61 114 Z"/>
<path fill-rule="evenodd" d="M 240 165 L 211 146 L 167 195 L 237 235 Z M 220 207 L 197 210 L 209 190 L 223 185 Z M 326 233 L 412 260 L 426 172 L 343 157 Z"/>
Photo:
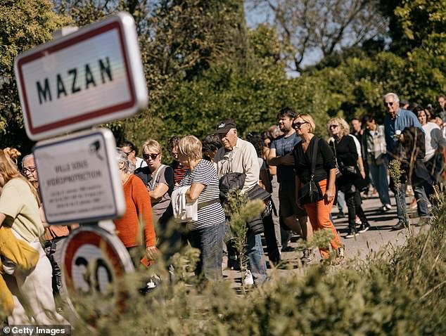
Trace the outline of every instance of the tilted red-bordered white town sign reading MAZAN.
<path fill-rule="evenodd" d="M 148 100 L 128 13 L 20 54 L 15 77 L 25 129 L 33 140 L 129 117 Z"/>

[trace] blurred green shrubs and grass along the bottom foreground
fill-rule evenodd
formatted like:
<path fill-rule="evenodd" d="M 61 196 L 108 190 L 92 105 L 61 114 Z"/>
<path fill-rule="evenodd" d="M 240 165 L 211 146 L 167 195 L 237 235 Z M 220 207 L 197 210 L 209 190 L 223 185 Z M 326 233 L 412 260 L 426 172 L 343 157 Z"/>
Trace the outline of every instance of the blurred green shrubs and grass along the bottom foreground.
<path fill-rule="evenodd" d="M 438 190 L 428 230 L 365 261 L 273 269 L 244 295 L 227 281 L 203 288 L 187 277 L 145 297 L 133 287 L 127 311 L 103 316 L 94 330 L 79 321 L 74 335 L 446 335 L 444 197 Z"/>

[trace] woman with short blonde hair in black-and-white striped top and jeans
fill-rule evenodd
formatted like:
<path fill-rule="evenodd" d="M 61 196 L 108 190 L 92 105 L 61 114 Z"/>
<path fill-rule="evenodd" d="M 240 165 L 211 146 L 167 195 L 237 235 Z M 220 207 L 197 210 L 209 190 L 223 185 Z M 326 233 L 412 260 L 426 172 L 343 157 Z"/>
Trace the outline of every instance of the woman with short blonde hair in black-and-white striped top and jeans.
<path fill-rule="evenodd" d="M 207 280 L 222 278 L 224 212 L 219 202 L 219 181 L 212 162 L 202 158 L 202 145 L 195 136 L 178 143 L 179 162 L 187 165 L 179 186 L 190 186 L 186 202 L 198 203 L 198 220 L 187 223 L 189 242 L 200 250 L 196 275 Z"/>

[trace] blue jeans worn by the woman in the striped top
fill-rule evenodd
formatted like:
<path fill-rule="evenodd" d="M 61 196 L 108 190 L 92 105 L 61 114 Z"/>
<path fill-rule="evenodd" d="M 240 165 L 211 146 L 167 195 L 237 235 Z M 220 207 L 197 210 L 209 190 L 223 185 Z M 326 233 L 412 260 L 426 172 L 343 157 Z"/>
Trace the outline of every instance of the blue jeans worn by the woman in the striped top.
<path fill-rule="evenodd" d="M 222 275 L 224 221 L 206 228 L 189 232 L 192 247 L 200 250 L 200 259 L 195 269 L 197 276 L 201 273 L 208 280 L 219 280 Z"/>

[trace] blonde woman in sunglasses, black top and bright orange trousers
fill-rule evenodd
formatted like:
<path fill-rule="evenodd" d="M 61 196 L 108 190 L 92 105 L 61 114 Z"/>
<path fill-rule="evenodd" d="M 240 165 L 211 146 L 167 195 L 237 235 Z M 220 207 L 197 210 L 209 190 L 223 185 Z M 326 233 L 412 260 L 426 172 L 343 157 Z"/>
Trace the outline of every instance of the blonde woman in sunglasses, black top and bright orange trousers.
<path fill-rule="evenodd" d="M 313 231 L 327 228 L 333 232 L 334 238 L 331 240 L 330 245 L 338 259 L 342 259 L 344 257 L 344 248 L 340 243 L 338 232 L 330 220 L 331 207 L 333 206 L 336 193 L 336 164 L 333 153 L 326 141 L 318 136 L 314 136 L 313 132 L 316 124 L 310 115 L 298 115 L 293 121 L 293 128 L 296 134 L 302 138 L 302 141 L 293 149 L 296 174 L 295 189 L 298 206 L 305 207 Z M 317 153 L 313 153 L 316 142 Z M 323 198 L 322 200 L 302 205 L 300 204 L 300 197 L 302 196 L 300 195 L 300 191 L 304 183 L 311 179 L 313 157 L 315 157 L 313 179 L 316 183 L 319 183 Z M 329 258 L 329 249 L 327 247 L 319 247 L 319 251 L 321 252 L 322 258 Z"/>

